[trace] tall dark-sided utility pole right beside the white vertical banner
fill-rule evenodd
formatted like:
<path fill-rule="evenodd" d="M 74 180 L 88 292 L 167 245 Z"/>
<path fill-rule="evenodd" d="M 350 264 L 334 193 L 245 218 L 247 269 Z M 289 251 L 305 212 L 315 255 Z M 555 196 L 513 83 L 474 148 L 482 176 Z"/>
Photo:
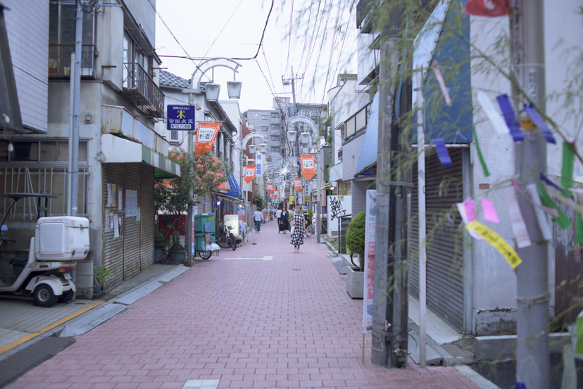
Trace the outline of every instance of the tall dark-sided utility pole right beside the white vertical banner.
<path fill-rule="evenodd" d="M 408 203 L 410 183 L 397 182 L 403 169 L 399 155 L 401 133 L 395 112 L 399 77 L 399 33 L 391 23 L 394 10 L 388 1 L 380 13 L 379 141 L 377 145 L 377 230 L 375 237 L 375 281 L 372 312 L 371 363 L 383 367 L 406 367 L 408 352 L 408 270 L 406 267 Z M 390 15 L 390 16 L 389 16 Z M 399 25 L 400 27 L 400 25 Z M 406 66 L 406 65 L 403 65 Z M 403 87 L 403 89 L 405 89 Z M 402 150 L 406 152 L 406 150 Z M 406 175 L 410 177 L 410 175 Z M 402 179 L 401 179 L 402 180 Z"/>

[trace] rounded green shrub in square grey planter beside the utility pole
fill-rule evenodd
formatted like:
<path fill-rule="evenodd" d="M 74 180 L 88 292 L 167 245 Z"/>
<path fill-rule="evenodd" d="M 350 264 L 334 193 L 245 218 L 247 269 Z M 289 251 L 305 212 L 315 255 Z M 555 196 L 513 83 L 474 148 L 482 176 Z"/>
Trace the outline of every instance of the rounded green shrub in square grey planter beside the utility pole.
<path fill-rule="evenodd" d="M 349 224 L 346 231 L 346 248 L 352 253 L 358 253 L 361 267 L 349 266 L 346 272 L 346 292 L 351 298 L 364 297 L 364 244 L 365 244 L 365 212 L 358 213 Z"/>

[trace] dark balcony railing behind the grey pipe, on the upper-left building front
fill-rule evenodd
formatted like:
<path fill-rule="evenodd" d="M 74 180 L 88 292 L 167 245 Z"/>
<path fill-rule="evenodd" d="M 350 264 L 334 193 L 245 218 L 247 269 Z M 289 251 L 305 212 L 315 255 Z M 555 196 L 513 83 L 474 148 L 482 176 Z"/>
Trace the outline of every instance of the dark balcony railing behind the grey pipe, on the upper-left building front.
<path fill-rule="evenodd" d="M 71 75 L 71 53 L 75 52 L 74 44 L 49 44 L 49 77 L 68 78 Z M 95 46 L 81 46 L 81 75 L 93 77 Z"/>

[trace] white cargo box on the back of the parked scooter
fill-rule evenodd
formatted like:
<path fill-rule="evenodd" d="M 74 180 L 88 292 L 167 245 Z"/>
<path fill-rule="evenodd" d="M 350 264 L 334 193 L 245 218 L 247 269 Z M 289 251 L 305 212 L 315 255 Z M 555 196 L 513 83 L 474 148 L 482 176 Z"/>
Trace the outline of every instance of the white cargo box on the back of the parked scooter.
<path fill-rule="evenodd" d="M 78 261 L 89 253 L 89 220 L 84 217 L 41 217 L 35 227 L 39 261 Z"/>

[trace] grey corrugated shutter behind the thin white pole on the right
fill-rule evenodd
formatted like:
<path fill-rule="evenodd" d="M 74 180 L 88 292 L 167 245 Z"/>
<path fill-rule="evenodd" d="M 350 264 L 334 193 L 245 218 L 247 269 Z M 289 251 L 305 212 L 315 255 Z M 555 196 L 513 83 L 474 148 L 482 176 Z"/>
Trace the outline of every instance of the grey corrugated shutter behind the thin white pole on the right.
<path fill-rule="evenodd" d="M 427 224 L 427 306 L 453 328 L 463 331 L 463 236 L 457 234 L 463 201 L 463 150 L 450 148 L 452 166 L 441 166 L 437 154 L 426 156 L 425 204 Z M 411 192 L 410 293 L 419 297 L 418 185 L 413 165 Z"/>

